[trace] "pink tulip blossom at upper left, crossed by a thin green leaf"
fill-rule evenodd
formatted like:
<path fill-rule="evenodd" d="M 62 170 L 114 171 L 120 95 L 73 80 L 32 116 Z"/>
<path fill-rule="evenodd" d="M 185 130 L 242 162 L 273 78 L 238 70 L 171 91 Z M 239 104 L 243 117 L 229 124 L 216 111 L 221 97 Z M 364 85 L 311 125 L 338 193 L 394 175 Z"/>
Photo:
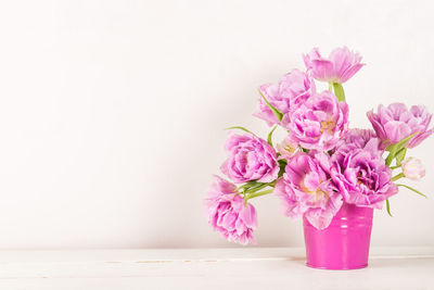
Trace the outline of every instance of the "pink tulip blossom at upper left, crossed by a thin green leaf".
<path fill-rule="evenodd" d="M 282 114 L 288 114 L 315 92 L 315 83 L 307 74 L 293 70 L 282 77 L 279 86 L 266 84 L 259 87 L 259 92 L 261 97 L 259 97 L 258 110 L 253 115 L 272 126 L 278 124 L 279 119 L 265 102 L 263 96 Z"/>

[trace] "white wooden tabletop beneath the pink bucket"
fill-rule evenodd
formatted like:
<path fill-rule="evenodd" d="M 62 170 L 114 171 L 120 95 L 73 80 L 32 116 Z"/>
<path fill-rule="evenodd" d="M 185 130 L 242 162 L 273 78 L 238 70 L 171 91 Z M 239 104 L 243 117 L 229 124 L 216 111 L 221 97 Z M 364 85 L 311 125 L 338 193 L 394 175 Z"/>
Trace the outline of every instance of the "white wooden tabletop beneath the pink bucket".
<path fill-rule="evenodd" d="M 0 251 L 0 289 L 434 289 L 434 248 L 372 249 L 357 270 L 304 263 L 289 248 Z"/>

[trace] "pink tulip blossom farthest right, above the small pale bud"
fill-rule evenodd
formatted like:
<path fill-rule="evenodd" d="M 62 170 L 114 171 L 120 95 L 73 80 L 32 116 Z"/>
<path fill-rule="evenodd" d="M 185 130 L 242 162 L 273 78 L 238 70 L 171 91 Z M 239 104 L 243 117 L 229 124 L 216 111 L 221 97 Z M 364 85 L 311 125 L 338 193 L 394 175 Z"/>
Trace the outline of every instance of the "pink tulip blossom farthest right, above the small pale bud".
<path fill-rule="evenodd" d="M 413 105 L 408 110 L 404 103 L 380 104 L 378 113 L 370 111 L 367 115 L 383 148 L 417 134 L 406 143 L 407 148 L 414 148 L 434 131 L 434 128 L 429 129 L 432 114 L 424 105 Z"/>

